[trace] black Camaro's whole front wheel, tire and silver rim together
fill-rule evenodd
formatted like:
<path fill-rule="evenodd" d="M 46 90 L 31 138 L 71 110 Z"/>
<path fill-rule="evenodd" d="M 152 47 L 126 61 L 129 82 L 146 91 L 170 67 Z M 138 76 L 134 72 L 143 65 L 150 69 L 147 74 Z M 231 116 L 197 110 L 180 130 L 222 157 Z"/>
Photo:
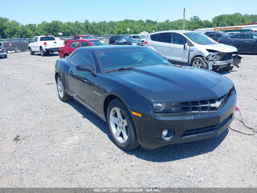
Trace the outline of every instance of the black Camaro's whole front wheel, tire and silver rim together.
<path fill-rule="evenodd" d="M 120 148 L 130 150 L 139 146 L 132 117 L 120 99 L 109 103 L 106 117 L 110 133 Z"/>

